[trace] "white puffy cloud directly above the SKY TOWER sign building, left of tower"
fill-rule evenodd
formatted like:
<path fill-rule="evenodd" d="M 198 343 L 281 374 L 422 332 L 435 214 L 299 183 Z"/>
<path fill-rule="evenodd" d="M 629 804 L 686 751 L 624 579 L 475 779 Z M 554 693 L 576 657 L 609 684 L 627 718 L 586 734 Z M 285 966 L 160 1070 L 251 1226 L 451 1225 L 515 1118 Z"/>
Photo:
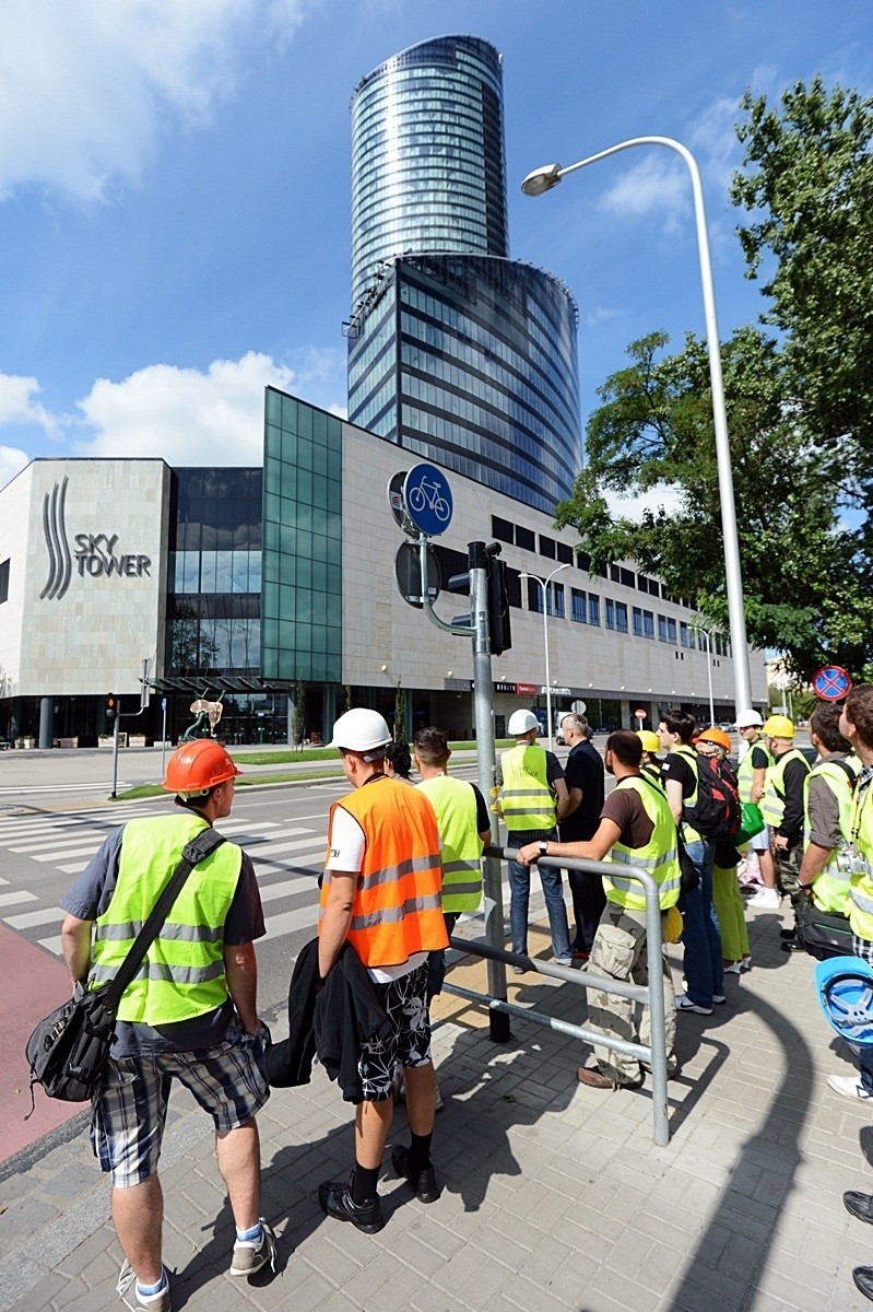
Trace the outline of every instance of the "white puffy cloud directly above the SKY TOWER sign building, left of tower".
<path fill-rule="evenodd" d="M 77 455 L 161 457 L 169 464 L 261 464 L 263 388 L 295 374 L 270 356 L 215 359 L 206 373 L 149 365 L 121 383 L 100 378 L 79 401 L 93 436 Z"/>

